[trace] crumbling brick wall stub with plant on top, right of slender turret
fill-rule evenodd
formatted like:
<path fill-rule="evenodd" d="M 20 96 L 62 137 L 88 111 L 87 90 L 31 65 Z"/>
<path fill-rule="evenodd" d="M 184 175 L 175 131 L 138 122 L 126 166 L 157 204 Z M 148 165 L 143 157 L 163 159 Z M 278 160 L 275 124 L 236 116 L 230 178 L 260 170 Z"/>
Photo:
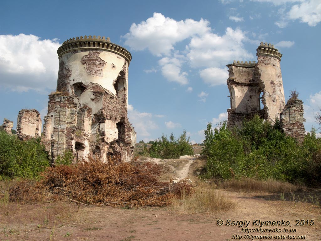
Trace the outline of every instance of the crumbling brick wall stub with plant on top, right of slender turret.
<path fill-rule="evenodd" d="M 298 142 L 302 142 L 305 135 L 303 118 L 303 102 L 301 100 L 293 100 L 288 103 L 280 114 L 280 127 L 282 131 Z"/>

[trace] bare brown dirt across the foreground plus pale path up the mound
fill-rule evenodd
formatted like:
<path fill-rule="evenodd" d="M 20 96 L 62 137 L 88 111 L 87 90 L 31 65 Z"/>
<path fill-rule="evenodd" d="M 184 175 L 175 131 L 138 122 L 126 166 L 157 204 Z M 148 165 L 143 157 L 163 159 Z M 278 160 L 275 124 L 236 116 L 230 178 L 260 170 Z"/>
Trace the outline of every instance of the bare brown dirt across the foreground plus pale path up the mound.
<path fill-rule="evenodd" d="M 200 182 L 195 173 L 205 163 L 193 158 L 145 161 L 164 165 L 166 172 L 161 179 L 189 178 L 195 185 Z M 321 240 L 320 206 L 317 205 L 320 189 L 301 192 L 300 197 L 296 196 L 297 201 L 286 201 L 289 198 L 282 194 L 222 192 L 235 200 L 236 208 L 204 215 L 179 213 L 171 206 L 125 209 L 86 207 L 63 201 L 39 205 L 9 203 L 0 210 L 0 240 Z M 262 228 L 274 230 L 260 233 L 262 229 L 257 219 L 283 221 L 284 225 L 267 223 Z M 222 226 L 217 225 L 219 220 L 223 221 Z M 296 220 L 299 226 L 295 226 Z M 302 226 L 300 220 L 304 220 Z M 310 225 L 311 220 L 314 220 L 313 225 Z M 237 221 L 249 221 L 249 224 L 240 227 Z"/>

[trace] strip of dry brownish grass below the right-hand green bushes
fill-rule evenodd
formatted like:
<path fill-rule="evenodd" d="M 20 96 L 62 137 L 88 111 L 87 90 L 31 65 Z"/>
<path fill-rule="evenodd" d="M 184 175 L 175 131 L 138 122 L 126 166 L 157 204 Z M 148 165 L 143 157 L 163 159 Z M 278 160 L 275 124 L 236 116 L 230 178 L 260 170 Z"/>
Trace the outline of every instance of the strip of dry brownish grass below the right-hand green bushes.
<path fill-rule="evenodd" d="M 244 178 L 241 180 L 231 179 L 221 184 L 221 188 L 235 192 L 294 192 L 303 188 L 301 185 L 284 183 L 276 180 L 259 181 L 252 178 Z"/>

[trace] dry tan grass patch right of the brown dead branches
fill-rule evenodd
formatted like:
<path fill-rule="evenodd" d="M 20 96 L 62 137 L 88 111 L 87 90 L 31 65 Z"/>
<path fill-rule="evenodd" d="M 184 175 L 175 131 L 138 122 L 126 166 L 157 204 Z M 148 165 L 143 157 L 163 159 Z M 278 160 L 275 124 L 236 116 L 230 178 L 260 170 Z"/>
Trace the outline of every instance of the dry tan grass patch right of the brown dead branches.
<path fill-rule="evenodd" d="M 173 200 L 173 209 L 180 213 L 203 214 L 235 208 L 236 202 L 220 190 L 195 188 L 192 195 Z"/>

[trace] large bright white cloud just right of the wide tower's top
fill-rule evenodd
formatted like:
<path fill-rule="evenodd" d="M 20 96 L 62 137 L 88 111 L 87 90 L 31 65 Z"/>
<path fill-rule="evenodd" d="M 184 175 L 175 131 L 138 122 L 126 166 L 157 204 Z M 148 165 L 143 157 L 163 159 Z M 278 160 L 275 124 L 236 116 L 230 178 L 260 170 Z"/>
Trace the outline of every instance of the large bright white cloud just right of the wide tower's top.
<path fill-rule="evenodd" d="M 125 44 L 134 50 L 148 49 L 152 54 L 170 55 L 174 45 L 194 34 L 209 31 L 209 22 L 201 19 L 195 21 L 186 19 L 176 21 L 161 13 L 154 13 L 152 17 L 139 24 L 133 23 L 129 33 L 123 36 Z"/>

